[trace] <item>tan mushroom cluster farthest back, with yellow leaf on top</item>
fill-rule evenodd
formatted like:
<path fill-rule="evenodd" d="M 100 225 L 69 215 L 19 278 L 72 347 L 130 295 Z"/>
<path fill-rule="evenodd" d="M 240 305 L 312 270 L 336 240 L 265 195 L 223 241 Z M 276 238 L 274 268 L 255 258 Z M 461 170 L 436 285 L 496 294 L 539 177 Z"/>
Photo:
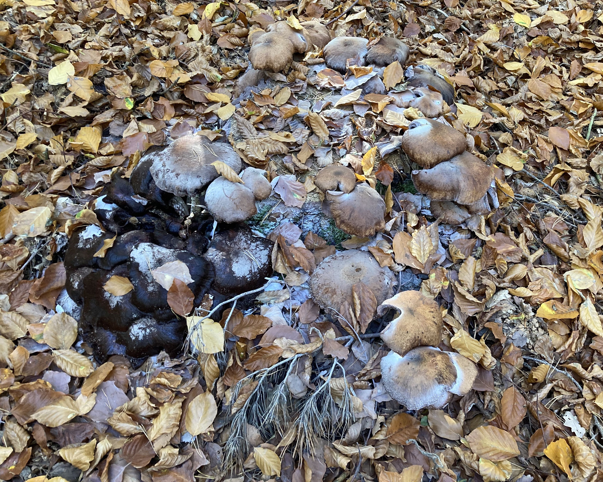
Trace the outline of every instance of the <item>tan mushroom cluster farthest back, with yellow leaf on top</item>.
<path fill-rule="evenodd" d="M 293 60 L 293 54 L 321 49 L 330 40 L 329 30 L 317 20 L 301 22 L 301 30 L 286 21 L 274 22 L 249 34 L 249 61 L 255 70 L 279 72 Z"/>

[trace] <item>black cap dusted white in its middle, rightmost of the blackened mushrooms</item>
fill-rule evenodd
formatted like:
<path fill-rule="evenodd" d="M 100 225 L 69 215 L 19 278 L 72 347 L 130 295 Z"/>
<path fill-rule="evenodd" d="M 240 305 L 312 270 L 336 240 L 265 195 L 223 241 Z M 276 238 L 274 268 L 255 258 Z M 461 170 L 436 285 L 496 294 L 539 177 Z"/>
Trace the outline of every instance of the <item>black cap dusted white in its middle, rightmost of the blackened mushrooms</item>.
<path fill-rule="evenodd" d="M 204 254 L 215 268 L 212 288 L 224 296 L 262 286 L 272 274 L 273 243 L 254 236 L 247 225 L 238 225 L 216 234 Z"/>

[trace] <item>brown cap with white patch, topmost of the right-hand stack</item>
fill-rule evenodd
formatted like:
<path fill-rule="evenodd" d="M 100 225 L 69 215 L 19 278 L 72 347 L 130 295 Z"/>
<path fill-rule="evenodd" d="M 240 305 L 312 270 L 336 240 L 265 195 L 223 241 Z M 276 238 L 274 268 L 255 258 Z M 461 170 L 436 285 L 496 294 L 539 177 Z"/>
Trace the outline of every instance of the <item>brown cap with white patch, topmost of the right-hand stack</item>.
<path fill-rule="evenodd" d="M 429 169 L 467 148 L 465 136 L 450 125 L 432 119 L 415 119 L 402 136 L 404 152 L 419 166 Z"/>

